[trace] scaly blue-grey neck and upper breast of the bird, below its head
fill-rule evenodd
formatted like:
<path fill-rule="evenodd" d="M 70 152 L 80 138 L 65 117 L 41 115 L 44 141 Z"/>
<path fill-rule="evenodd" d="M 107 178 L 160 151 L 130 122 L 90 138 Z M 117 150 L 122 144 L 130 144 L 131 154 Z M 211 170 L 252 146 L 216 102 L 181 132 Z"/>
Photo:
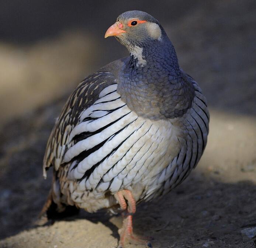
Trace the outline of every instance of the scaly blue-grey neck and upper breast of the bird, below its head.
<path fill-rule="evenodd" d="M 176 118 L 186 113 L 194 98 L 194 89 L 180 71 L 169 39 L 151 41 L 129 50 L 131 56 L 117 88 L 128 107 L 138 116 L 152 120 Z"/>

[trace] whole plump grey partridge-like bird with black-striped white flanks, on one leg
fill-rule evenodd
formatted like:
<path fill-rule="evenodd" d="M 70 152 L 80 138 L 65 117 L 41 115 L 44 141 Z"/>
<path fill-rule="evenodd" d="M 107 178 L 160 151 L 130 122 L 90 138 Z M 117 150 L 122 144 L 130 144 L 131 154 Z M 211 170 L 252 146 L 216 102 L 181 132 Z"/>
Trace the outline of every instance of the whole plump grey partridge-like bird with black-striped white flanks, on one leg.
<path fill-rule="evenodd" d="M 207 100 L 150 14 L 120 14 L 109 36 L 129 56 L 85 78 L 63 107 L 46 145 L 43 174 L 52 166 L 53 180 L 42 211 L 122 213 L 118 248 L 152 247 L 134 234 L 136 206 L 170 192 L 196 167 L 209 132 Z"/>

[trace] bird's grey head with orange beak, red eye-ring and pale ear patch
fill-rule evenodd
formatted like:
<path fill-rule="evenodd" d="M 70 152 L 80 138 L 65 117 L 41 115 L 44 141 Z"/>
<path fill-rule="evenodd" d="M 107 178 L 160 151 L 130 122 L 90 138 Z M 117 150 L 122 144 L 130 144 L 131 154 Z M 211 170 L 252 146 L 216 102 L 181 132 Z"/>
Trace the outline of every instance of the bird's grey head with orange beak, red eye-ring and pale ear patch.
<path fill-rule="evenodd" d="M 151 42 L 161 42 L 164 30 L 158 20 L 146 12 L 133 10 L 122 13 L 108 28 L 105 38 L 115 36 L 128 50 L 143 47 Z"/>

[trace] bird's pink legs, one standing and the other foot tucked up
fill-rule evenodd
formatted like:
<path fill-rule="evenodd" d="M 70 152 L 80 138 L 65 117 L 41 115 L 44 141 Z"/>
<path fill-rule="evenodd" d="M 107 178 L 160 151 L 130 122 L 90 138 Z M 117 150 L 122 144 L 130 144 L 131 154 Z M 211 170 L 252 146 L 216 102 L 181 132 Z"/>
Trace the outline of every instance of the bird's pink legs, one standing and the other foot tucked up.
<path fill-rule="evenodd" d="M 132 196 L 132 192 L 129 190 L 118 191 L 115 194 L 121 209 L 127 210 L 127 213 L 124 214 L 124 220 L 122 228 L 118 230 L 120 235 L 120 240 L 118 242 L 118 248 L 125 248 L 126 244 L 134 245 L 145 245 L 145 247 L 152 247 L 151 243 L 147 240 L 134 235 L 132 228 L 132 215 L 136 212 L 136 202 Z M 127 203 L 128 207 L 127 207 Z"/>

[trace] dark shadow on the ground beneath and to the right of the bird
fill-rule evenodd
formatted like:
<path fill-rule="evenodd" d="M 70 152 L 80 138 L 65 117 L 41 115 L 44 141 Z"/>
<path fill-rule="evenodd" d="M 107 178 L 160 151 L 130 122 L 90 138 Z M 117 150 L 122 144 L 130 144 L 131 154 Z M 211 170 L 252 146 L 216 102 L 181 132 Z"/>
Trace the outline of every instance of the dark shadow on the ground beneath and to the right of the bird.
<path fill-rule="evenodd" d="M 253 202 L 256 203 L 252 198 L 255 192 L 256 185 L 251 182 L 224 184 L 192 176 L 166 196 L 139 204 L 134 216 L 134 232 L 153 237 L 155 247 L 170 247 L 170 244 L 182 247 L 184 243 L 187 247 L 218 244 L 224 233 L 230 238 L 233 235 L 240 237 L 243 227 L 248 224 L 256 226 L 256 213 L 249 212 L 253 209 Z M 112 231 L 114 238 L 119 239 L 121 216 L 110 216 L 104 210 L 92 214 L 80 210 L 79 214 L 63 220 L 78 219 L 100 222 Z"/>

